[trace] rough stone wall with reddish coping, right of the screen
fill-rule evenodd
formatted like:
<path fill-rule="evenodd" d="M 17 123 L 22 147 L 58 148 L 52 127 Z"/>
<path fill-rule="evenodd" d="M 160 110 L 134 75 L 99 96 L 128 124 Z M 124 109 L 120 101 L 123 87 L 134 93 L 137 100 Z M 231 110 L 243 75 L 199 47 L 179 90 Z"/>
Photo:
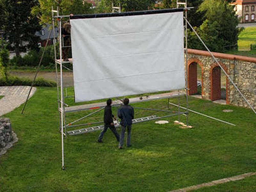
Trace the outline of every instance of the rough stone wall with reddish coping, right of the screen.
<path fill-rule="evenodd" d="M 245 98 L 256 108 L 256 58 L 223 53 L 213 54 L 239 90 L 244 94 Z M 188 69 L 192 63 L 197 63 L 202 69 L 202 98 L 213 100 L 214 86 L 212 85 L 214 79 L 212 79 L 212 70 L 218 67 L 218 64 L 208 52 L 188 49 Z M 188 88 L 189 76 L 190 74 L 188 73 Z M 229 83 L 227 77 L 226 103 L 248 107 L 235 87 Z"/>

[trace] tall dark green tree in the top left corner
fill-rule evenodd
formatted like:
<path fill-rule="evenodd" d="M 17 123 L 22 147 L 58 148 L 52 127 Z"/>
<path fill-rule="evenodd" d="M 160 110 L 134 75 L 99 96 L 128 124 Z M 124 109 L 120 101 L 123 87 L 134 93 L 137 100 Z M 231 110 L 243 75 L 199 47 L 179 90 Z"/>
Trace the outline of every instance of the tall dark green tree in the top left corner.
<path fill-rule="evenodd" d="M 39 37 L 36 31 L 41 30 L 39 20 L 31 15 L 31 8 L 38 2 L 36 0 L 1 0 L 4 12 L 2 29 L 8 43 L 14 46 L 16 56 L 27 48 L 36 48 Z"/>

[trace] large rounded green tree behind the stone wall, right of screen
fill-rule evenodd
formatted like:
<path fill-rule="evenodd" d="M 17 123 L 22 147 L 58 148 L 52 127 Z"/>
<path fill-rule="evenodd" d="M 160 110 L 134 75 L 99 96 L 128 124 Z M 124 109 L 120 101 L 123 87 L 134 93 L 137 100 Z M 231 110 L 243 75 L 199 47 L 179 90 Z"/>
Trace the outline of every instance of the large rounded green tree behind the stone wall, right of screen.
<path fill-rule="evenodd" d="M 203 14 L 203 23 L 194 27 L 199 36 L 211 51 L 223 52 L 226 45 L 237 44 L 240 29 L 233 6 L 226 0 L 204 0 L 197 13 Z M 188 46 L 193 49 L 205 48 L 198 44 L 199 40 L 191 32 L 188 36 Z"/>

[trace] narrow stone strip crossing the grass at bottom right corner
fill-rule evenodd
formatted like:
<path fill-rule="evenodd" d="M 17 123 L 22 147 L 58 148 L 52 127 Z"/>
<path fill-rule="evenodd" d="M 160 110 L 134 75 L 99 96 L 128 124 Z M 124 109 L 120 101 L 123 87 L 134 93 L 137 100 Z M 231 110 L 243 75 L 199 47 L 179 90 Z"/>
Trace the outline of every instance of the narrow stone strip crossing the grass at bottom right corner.
<path fill-rule="evenodd" d="M 170 191 L 170 192 L 193 191 L 193 190 L 203 188 L 203 187 L 210 187 L 210 186 L 219 185 L 219 184 L 222 184 L 222 183 L 227 183 L 227 182 L 230 182 L 230 181 L 242 180 L 246 177 L 251 177 L 253 175 L 256 175 L 256 172 L 244 173 L 242 175 L 236 175 L 234 177 L 228 177 L 228 178 L 224 178 L 224 179 L 220 179 L 220 180 L 211 181 L 211 182 L 208 182 L 208 183 L 193 185 L 193 186 L 190 186 L 190 187 L 181 188 L 181 189 L 173 190 L 173 191 Z"/>

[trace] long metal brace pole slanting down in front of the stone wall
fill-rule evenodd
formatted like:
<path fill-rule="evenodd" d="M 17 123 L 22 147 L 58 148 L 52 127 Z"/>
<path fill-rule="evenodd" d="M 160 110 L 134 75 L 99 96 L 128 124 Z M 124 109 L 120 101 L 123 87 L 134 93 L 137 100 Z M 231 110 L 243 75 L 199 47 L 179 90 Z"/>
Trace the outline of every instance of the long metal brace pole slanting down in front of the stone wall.
<path fill-rule="evenodd" d="M 201 37 L 196 33 L 195 29 L 191 26 L 191 24 L 188 22 L 188 20 L 184 17 L 184 19 L 186 20 L 186 22 L 188 23 L 189 27 L 194 31 L 194 33 L 196 34 L 196 36 L 199 38 L 199 40 L 202 42 L 202 44 L 204 45 L 204 47 L 207 49 L 207 51 L 211 54 L 212 58 L 215 60 L 215 62 L 219 65 L 219 67 L 221 68 L 221 70 L 225 73 L 225 75 L 228 77 L 229 81 L 234 85 L 234 87 L 236 88 L 236 90 L 239 92 L 239 94 L 242 96 L 242 98 L 246 101 L 246 103 L 250 106 L 250 108 L 252 109 L 252 111 L 255 113 L 256 115 L 256 111 L 254 110 L 254 108 L 252 107 L 252 105 L 249 103 L 249 101 L 244 97 L 243 93 L 238 89 L 238 87 L 236 86 L 236 84 L 233 82 L 233 80 L 228 76 L 228 74 L 226 73 L 226 71 L 222 68 L 222 66 L 220 65 L 219 61 L 214 57 L 214 55 L 212 54 L 212 52 L 208 49 L 208 47 L 206 46 L 206 44 L 204 43 L 204 41 L 201 39 Z"/>

